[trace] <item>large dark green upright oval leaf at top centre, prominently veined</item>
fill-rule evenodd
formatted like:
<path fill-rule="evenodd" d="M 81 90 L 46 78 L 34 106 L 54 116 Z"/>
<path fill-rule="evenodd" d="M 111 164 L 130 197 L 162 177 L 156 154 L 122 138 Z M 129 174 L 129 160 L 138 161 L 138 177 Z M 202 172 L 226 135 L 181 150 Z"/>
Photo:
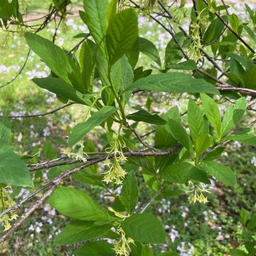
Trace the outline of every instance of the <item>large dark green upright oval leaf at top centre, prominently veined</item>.
<path fill-rule="evenodd" d="M 131 48 L 138 38 L 137 13 L 133 8 L 125 9 L 111 18 L 106 45 L 111 66 Z"/>

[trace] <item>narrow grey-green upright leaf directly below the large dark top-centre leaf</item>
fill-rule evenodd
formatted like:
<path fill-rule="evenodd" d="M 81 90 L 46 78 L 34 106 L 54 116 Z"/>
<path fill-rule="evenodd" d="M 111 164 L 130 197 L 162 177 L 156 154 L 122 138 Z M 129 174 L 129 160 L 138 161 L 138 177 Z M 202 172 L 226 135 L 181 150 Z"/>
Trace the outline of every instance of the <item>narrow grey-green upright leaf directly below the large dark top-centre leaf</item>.
<path fill-rule="evenodd" d="M 132 90 L 125 91 L 126 87 L 132 84 L 134 79 L 134 73 L 131 65 L 129 64 L 128 58 L 122 56 L 122 80 L 120 84 L 120 92 L 123 92 L 121 95 L 121 100 L 127 103 L 131 98 Z"/>

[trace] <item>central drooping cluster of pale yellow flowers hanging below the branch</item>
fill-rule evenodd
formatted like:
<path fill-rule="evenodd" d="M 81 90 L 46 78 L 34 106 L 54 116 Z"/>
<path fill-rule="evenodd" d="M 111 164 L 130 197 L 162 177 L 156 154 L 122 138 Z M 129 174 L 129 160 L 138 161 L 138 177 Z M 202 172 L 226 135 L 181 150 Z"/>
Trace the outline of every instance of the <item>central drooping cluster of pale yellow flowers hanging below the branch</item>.
<path fill-rule="evenodd" d="M 122 148 L 125 147 L 125 144 L 122 144 L 118 138 L 116 138 L 113 148 L 107 148 L 106 152 L 108 157 L 104 161 L 104 165 L 109 167 L 108 172 L 105 172 L 103 181 L 107 184 L 113 182 L 116 185 L 122 184 L 122 181 L 127 172 L 120 166 L 120 162 L 127 160 L 125 155 L 122 152 Z M 109 160 L 110 157 L 113 157 L 113 163 Z"/>

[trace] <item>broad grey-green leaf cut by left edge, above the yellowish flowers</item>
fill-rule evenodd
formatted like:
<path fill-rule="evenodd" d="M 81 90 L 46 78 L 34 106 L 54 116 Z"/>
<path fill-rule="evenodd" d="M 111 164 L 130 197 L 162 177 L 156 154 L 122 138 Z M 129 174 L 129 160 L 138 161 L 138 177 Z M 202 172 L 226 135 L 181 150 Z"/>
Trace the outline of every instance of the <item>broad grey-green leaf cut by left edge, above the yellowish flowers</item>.
<path fill-rule="evenodd" d="M 0 150 L 0 183 L 33 187 L 26 163 L 12 151 Z"/>

